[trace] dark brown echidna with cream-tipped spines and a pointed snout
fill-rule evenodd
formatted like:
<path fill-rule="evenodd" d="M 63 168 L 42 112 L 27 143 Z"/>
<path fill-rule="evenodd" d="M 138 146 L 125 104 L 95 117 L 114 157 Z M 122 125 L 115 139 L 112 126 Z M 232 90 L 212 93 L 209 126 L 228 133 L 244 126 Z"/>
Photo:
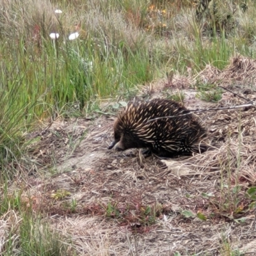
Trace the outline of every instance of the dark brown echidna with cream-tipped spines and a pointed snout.
<path fill-rule="evenodd" d="M 115 121 L 115 141 L 109 149 L 148 148 L 160 157 L 205 151 L 201 141 L 206 137 L 206 129 L 193 114 L 178 116 L 184 113 L 189 113 L 188 109 L 173 100 L 130 102 Z M 152 120 L 162 116 L 175 117 Z"/>

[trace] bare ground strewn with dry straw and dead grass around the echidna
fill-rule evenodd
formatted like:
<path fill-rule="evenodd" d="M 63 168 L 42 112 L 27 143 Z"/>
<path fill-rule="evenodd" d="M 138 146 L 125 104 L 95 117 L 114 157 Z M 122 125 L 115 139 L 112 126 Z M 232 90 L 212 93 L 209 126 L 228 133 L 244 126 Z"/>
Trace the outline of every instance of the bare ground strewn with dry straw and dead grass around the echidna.
<path fill-rule="evenodd" d="M 221 85 L 230 88 L 239 79 L 228 68 L 223 74 L 207 67 L 197 77 L 217 84 L 223 76 L 232 83 Z M 249 74 L 246 68 L 240 74 Z M 194 82 L 189 76 L 163 79 L 142 86 L 140 94 L 153 99 L 182 91 L 189 109 L 248 103 L 232 92 L 251 100 L 256 96 L 252 87 L 248 93 L 233 86 L 232 92 L 223 90 L 218 103 L 209 103 L 196 96 Z M 31 134 L 40 138 L 31 157 L 47 172 L 31 170 L 24 198 L 31 196 L 28 204 L 70 238 L 79 255 L 239 255 L 231 254 L 236 250 L 256 255 L 255 205 L 246 193 L 256 184 L 255 109 L 198 116 L 212 148 L 178 159 L 108 150 L 115 116 L 60 118 Z"/>

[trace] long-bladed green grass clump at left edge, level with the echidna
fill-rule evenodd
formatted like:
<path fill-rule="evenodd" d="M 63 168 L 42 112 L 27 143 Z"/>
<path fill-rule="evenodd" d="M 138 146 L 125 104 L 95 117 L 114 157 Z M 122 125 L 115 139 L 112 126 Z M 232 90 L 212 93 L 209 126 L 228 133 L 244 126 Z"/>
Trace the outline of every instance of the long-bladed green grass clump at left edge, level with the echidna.
<path fill-rule="evenodd" d="M 3 66 L 2 66 L 3 67 Z M 24 88 L 22 88 L 22 77 L 16 74 L 14 81 L 9 79 L 10 74 L 15 73 L 12 70 L 1 70 L 6 72 L 0 84 L 0 170 L 1 180 L 3 175 L 11 179 L 15 173 L 13 170 L 19 165 L 19 159 L 22 157 L 25 138 L 24 134 L 31 122 L 29 111 L 35 102 L 25 102 Z"/>

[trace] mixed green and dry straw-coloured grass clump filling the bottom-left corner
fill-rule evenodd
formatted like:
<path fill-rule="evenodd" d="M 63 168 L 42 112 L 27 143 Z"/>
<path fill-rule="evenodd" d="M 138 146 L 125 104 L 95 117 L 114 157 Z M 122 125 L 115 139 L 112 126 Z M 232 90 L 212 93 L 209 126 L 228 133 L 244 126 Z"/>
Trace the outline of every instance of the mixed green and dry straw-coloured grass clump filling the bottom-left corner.
<path fill-rule="evenodd" d="M 23 189 L 8 193 L 5 183 L 0 198 L 1 255 L 74 255 L 71 245 L 40 215 Z"/>

